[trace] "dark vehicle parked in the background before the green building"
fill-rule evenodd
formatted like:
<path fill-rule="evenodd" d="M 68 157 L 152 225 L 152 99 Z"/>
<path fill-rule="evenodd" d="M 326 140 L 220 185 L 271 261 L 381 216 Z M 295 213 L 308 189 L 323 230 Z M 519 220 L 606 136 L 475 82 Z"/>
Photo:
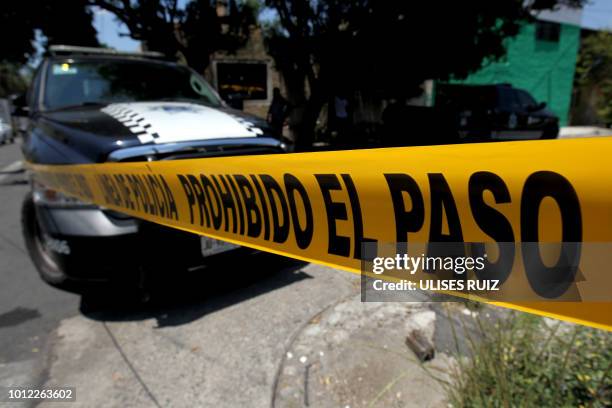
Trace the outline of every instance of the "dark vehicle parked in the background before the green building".
<path fill-rule="evenodd" d="M 436 108 L 452 114 L 464 141 L 554 139 L 559 118 L 529 92 L 507 84 L 438 84 Z"/>

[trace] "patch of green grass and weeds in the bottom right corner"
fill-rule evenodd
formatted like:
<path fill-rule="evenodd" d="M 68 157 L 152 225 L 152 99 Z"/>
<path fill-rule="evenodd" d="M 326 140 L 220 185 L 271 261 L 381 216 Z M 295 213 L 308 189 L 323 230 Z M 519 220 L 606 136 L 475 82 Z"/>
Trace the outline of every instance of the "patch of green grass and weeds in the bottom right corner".
<path fill-rule="evenodd" d="M 470 359 L 448 386 L 451 406 L 612 406 L 611 333 L 525 313 L 476 325 L 478 336 L 463 330 Z"/>

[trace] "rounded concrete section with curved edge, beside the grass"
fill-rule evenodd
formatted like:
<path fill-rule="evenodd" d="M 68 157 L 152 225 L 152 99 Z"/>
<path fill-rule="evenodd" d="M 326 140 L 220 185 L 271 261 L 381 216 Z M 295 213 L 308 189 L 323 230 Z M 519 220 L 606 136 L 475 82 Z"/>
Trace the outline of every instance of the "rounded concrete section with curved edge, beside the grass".
<path fill-rule="evenodd" d="M 405 344 L 418 328 L 435 342 L 436 312 L 422 303 L 351 296 L 314 316 L 281 364 L 274 407 L 445 407 L 453 359 L 421 364 Z"/>

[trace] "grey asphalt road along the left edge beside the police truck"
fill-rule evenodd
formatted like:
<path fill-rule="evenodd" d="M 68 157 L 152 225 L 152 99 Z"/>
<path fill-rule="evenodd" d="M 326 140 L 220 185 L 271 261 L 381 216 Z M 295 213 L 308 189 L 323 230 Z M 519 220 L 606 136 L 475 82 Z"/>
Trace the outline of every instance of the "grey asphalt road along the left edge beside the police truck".
<path fill-rule="evenodd" d="M 61 319 L 79 313 L 79 297 L 43 284 L 27 256 L 22 169 L 19 145 L 0 145 L 0 385 L 44 382 L 49 334 Z"/>

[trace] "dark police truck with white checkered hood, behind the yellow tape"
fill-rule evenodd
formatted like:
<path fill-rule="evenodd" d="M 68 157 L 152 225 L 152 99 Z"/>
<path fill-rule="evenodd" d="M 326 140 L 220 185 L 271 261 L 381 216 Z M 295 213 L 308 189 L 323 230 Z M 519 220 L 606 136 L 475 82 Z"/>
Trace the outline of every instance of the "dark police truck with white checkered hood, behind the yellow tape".
<path fill-rule="evenodd" d="M 231 109 L 200 75 L 159 57 L 51 47 L 27 97 L 14 101 L 14 114 L 28 118 L 25 159 L 79 164 L 284 151 L 265 121 Z M 196 268 L 206 257 L 247 251 L 80 202 L 37 182 L 24 200 L 22 223 L 42 279 L 71 290 Z"/>

